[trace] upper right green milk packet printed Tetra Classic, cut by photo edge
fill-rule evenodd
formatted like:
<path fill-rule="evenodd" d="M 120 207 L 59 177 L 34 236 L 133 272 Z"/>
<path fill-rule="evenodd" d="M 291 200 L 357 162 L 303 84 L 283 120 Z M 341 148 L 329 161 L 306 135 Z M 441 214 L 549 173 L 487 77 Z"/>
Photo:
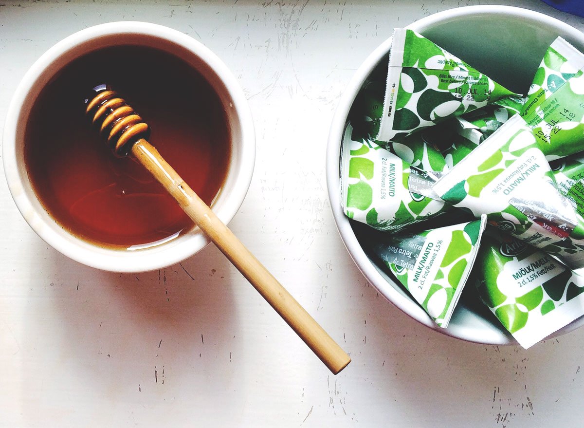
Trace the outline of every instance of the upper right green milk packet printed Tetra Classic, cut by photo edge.
<path fill-rule="evenodd" d="M 522 117 L 548 160 L 584 150 L 584 54 L 561 37 L 536 72 Z"/>

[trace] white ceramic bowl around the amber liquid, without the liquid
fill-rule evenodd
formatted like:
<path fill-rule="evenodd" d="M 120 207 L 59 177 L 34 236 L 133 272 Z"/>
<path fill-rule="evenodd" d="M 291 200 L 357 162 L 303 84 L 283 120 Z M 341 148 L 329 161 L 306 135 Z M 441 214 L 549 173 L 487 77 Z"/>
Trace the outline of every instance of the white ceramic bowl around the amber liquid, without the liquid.
<path fill-rule="evenodd" d="M 43 209 L 27 176 L 23 140 L 34 100 L 47 82 L 76 58 L 120 44 L 157 47 L 199 71 L 217 92 L 231 131 L 231 163 L 220 195 L 213 203 L 228 223 L 244 201 L 255 162 L 255 133 L 244 93 L 226 65 L 203 44 L 168 27 L 144 22 L 113 22 L 72 34 L 44 53 L 25 74 L 8 108 L 2 157 L 8 187 L 23 217 L 51 247 L 91 267 L 114 272 L 156 270 L 193 256 L 210 241 L 198 228 L 158 246 L 135 251 L 100 248 L 65 232 Z"/>

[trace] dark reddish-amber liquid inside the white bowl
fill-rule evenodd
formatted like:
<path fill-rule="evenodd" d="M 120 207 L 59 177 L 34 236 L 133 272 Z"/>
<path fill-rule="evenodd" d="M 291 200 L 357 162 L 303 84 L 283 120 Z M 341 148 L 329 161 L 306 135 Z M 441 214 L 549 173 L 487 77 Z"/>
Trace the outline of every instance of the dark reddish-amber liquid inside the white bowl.
<path fill-rule="evenodd" d="M 102 82 L 150 125 L 149 141 L 207 205 L 220 194 L 231 136 L 211 85 L 168 53 L 117 46 L 68 64 L 34 102 L 25 163 L 37 198 L 61 227 L 102 247 L 150 247 L 187 232 L 192 220 L 150 173 L 91 129 L 84 101 Z"/>

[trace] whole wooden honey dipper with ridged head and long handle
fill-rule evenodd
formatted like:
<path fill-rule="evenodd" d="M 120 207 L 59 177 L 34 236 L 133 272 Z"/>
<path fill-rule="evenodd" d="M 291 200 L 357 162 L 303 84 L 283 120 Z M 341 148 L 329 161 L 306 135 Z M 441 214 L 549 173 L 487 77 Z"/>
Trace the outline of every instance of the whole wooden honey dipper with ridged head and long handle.
<path fill-rule="evenodd" d="M 221 222 L 205 202 L 148 143 L 150 127 L 133 108 L 106 85 L 93 89 L 86 101 L 86 115 L 118 157 L 133 156 L 179 203 L 194 224 L 213 241 L 277 313 L 337 374 L 351 359 L 257 258 Z"/>

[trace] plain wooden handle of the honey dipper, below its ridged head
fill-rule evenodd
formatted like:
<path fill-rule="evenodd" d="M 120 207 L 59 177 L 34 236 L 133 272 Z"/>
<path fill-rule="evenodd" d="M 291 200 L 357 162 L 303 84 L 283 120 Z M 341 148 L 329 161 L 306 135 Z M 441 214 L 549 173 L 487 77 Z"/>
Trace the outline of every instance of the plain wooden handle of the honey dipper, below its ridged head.
<path fill-rule="evenodd" d="M 215 246 L 251 282 L 259 294 L 272 305 L 333 374 L 337 374 L 350 363 L 349 355 L 217 218 L 148 141 L 140 139 L 134 143 L 131 154 L 175 198 L 193 222 L 210 237 Z"/>

